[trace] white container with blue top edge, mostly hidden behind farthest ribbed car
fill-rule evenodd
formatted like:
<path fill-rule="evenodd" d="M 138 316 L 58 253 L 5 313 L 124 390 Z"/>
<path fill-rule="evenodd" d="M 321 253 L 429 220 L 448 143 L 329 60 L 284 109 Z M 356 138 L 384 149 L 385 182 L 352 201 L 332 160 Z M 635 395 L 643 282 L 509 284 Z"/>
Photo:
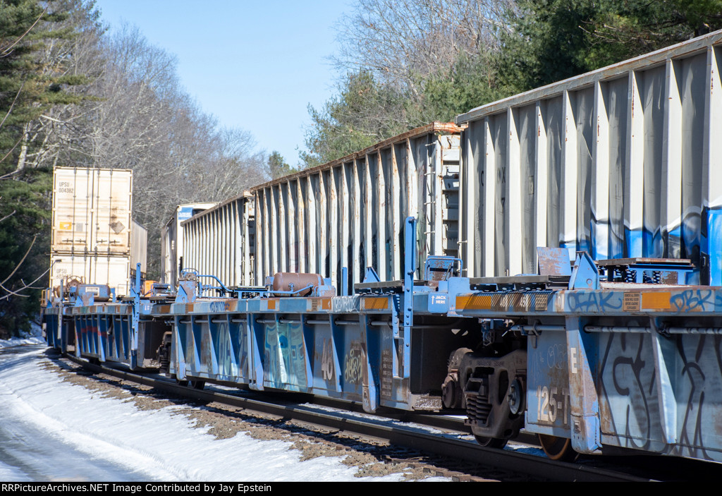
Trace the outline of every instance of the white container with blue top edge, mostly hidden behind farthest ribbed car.
<path fill-rule="evenodd" d="M 217 201 L 206 201 L 178 205 L 168 222 L 160 232 L 160 277 L 165 284 L 175 285 L 178 274 L 185 268 L 183 264 L 183 230 L 181 222 L 218 204 Z"/>

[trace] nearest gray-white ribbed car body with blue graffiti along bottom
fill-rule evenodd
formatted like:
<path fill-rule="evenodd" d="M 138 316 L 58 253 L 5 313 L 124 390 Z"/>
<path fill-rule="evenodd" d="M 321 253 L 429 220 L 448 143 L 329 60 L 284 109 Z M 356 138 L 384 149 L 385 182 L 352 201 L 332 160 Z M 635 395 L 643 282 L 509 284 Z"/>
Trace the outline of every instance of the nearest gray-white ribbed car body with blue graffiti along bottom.
<path fill-rule="evenodd" d="M 722 284 L 722 34 L 470 110 L 460 245 L 470 277 L 536 273 L 536 246 L 690 258 Z"/>

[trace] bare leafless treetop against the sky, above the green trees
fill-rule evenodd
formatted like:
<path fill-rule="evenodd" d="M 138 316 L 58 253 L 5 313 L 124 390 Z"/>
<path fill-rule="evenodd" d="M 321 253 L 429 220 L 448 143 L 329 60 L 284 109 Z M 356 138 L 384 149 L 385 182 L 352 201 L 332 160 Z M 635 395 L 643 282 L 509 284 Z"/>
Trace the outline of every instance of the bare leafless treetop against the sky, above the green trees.
<path fill-rule="evenodd" d="M 496 47 L 494 32 L 513 0 L 357 0 L 339 23 L 336 66 L 370 69 L 380 82 L 418 92 L 420 79 L 462 54 Z"/>

